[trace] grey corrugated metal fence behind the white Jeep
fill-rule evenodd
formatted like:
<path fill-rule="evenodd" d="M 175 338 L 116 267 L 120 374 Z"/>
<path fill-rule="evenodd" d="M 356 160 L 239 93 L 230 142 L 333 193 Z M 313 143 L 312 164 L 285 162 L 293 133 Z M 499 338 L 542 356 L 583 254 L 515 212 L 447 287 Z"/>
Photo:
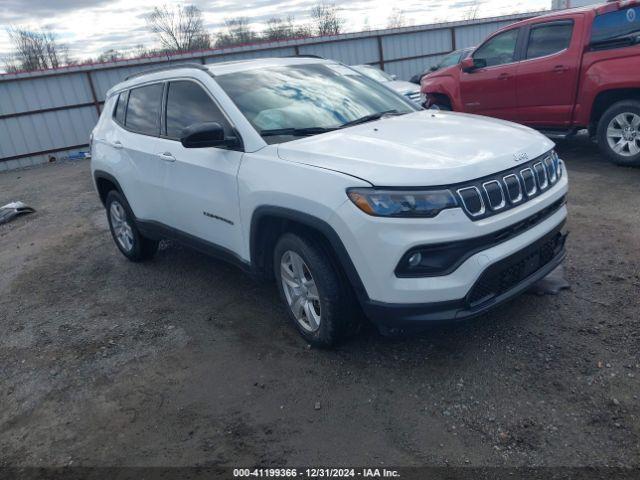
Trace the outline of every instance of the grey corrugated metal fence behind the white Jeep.
<path fill-rule="evenodd" d="M 447 53 L 535 14 L 261 43 L 167 57 L 0 75 L 0 171 L 45 163 L 86 150 L 105 94 L 127 75 L 159 63 L 202 64 L 260 57 L 319 55 L 378 65 L 408 79 Z"/>

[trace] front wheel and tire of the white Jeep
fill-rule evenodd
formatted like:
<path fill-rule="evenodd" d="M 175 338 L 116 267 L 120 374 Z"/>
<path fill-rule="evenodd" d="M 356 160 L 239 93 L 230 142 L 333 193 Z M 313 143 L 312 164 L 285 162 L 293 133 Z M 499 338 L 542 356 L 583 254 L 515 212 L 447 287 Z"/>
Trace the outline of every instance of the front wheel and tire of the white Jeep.
<path fill-rule="evenodd" d="M 302 262 L 297 264 L 299 268 L 297 261 Z M 286 233 L 274 249 L 273 268 L 287 315 L 307 342 L 329 348 L 357 331 L 360 322 L 351 286 L 321 245 Z M 306 283 L 300 282 L 301 275 Z M 292 286 L 296 283 L 305 283 L 302 291 L 297 289 L 302 294 L 300 303 L 296 303 L 296 288 Z"/>

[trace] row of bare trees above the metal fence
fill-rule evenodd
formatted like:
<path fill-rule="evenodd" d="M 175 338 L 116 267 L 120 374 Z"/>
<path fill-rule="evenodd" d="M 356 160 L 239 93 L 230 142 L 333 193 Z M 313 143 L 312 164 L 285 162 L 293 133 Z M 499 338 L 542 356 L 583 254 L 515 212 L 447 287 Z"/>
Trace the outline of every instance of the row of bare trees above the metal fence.
<path fill-rule="evenodd" d="M 95 59 L 83 63 L 108 62 L 125 58 L 232 47 L 248 43 L 291 40 L 311 36 L 343 33 L 345 19 L 332 3 L 321 2 L 309 12 L 309 22 L 298 23 L 293 16 L 268 19 L 261 30 L 252 27 L 248 17 L 227 18 L 223 27 L 211 33 L 206 29 L 202 11 L 195 5 L 154 7 L 145 21 L 147 29 L 158 41 L 155 48 L 137 45 L 121 51 L 109 49 Z M 401 12 L 394 10 L 389 26 L 397 27 Z M 393 25 L 392 25 L 393 23 Z M 79 61 L 69 55 L 67 46 L 58 41 L 50 30 L 32 30 L 23 26 L 7 29 L 13 51 L 5 60 L 7 72 L 44 70 L 77 65 Z"/>

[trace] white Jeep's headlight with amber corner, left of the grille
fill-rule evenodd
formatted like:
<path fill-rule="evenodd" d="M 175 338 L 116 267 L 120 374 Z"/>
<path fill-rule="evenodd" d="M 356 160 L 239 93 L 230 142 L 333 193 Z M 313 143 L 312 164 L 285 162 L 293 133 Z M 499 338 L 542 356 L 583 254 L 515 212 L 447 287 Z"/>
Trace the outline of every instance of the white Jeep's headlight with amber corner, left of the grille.
<path fill-rule="evenodd" d="M 363 212 L 376 217 L 431 218 L 458 202 L 449 190 L 376 190 L 350 188 L 349 199 Z"/>

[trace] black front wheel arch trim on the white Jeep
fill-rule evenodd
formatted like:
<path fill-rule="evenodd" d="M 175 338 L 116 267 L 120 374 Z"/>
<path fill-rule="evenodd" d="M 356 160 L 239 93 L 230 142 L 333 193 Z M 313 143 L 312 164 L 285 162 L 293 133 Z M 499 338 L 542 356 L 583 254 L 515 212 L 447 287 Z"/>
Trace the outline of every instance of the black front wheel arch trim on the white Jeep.
<path fill-rule="evenodd" d="M 333 229 L 331 225 L 329 225 L 324 220 L 321 220 L 317 217 L 309 215 L 307 213 L 300 212 L 298 210 L 292 210 L 284 207 L 276 207 L 271 205 L 263 205 L 256 208 L 251 217 L 251 230 L 250 230 L 250 255 L 251 255 L 251 264 L 254 268 L 257 267 L 256 261 L 258 258 L 258 225 L 260 220 L 265 217 L 276 217 L 285 220 L 291 220 L 293 222 L 305 225 L 309 228 L 319 231 L 324 235 L 324 237 L 329 242 L 329 245 L 333 249 L 336 254 L 336 258 L 340 262 L 340 266 L 344 270 L 349 282 L 353 286 L 353 289 L 358 297 L 358 299 L 363 301 L 368 301 L 369 296 L 367 295 L 367 291 L 364 288 L 364 284 L 360 279 L 360 275 L 356 270 L 355 265 L 351 261 L 351 257 L 347 252 L 342 240 Z"/>

